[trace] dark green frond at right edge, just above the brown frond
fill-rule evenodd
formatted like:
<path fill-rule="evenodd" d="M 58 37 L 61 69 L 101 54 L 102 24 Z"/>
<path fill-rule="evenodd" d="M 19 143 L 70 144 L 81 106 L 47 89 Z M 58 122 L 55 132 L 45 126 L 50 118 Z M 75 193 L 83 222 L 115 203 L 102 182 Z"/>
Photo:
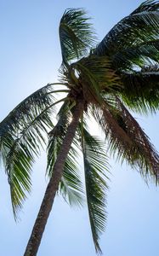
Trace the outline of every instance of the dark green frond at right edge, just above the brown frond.
<path fill-rule="evenodd" d="M 140 72 L 122 74 L 122 100 L 133 111 L 156 112 L 159 108 L 159 69 L 144 67 Z"/>

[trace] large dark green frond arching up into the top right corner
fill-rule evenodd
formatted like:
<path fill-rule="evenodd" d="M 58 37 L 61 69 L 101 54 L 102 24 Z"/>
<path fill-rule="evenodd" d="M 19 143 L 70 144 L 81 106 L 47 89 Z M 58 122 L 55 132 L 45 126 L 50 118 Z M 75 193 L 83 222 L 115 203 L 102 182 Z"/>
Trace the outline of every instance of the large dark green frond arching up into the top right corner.
<path fill-rule="evenodd" d="M 118 57 L 120 68 L 122 54 L 130 47 L 158 40 L 159 32 L 159 4 L 156 1 L 146 1 L 114 26 L 94 50 L 96 55 L 108 55 L 112 59 Z M 122 51 L 122 52 L 121 52 Z M 121 54 L 120 54 L 121 52 Z"/>

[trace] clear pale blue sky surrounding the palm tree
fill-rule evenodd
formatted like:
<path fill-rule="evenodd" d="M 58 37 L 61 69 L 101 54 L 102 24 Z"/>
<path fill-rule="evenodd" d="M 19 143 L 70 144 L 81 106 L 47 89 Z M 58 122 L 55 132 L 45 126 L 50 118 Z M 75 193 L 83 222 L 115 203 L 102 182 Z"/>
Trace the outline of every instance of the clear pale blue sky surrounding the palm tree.
<path fill-rule="evenodd" d="M 0 118 L 44 84 L 57 81 L 60 67 L 58 25 L 66 8 L 82 7 L 93 17 L 99 40 L 135 9 L 139 0 L 1 0 Z M 134 114 L 137 117 L 137 115 Z M 159 115 L 137 117 L 159 149 Z M 0 172 L 0 256 L 21 256 L 37 216 L 47 179 L 45 156 L 37 160 L 31 196 L 15 224 L 9 185 Z M 148 187 L 138 172 L 111 160 L 108 220 L 101 237 L 104 256 L 158 256 L 159 189 Z M 59 197 L 45 230 L 38 256 L 95 256 L 86 209 L 70 209 Z"/>

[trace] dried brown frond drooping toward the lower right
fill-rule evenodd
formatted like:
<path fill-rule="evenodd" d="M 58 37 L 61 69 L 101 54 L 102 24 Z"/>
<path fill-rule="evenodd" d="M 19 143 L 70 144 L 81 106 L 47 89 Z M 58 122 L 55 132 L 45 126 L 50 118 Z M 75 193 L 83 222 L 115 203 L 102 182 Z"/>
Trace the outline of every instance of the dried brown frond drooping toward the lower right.
<path fill-rule="evenodd" d="M 108 147 L 117 160 L 127 160 L 128 164 L 139 169 L 146 181 L 158 183 L 159 156 L 138 122 L 116 97 L 116 105 L 109 105 L 100 111 L 94 109 L 95 119 L 105 131 Z"/>

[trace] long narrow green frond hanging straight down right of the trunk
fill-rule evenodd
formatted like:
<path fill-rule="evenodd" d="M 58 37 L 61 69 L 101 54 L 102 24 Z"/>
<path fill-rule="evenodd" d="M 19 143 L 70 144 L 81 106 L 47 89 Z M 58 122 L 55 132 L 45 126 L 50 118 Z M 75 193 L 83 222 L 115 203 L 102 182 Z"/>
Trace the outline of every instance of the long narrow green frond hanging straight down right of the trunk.
<path fill-rule="evenodd" d="M 97 253 L 101 253 L 99 236 L 105 230 L 106 221 L 105 189 L 107 189 L 107 184 L 105 172 L 108 171 L 107 156 L 104 145 L 99 141 L 99 138 L 92 137 L 82 125 L 79 132 L 80 137 L 82 137 L 89 221 L 95 250 Z"/>

